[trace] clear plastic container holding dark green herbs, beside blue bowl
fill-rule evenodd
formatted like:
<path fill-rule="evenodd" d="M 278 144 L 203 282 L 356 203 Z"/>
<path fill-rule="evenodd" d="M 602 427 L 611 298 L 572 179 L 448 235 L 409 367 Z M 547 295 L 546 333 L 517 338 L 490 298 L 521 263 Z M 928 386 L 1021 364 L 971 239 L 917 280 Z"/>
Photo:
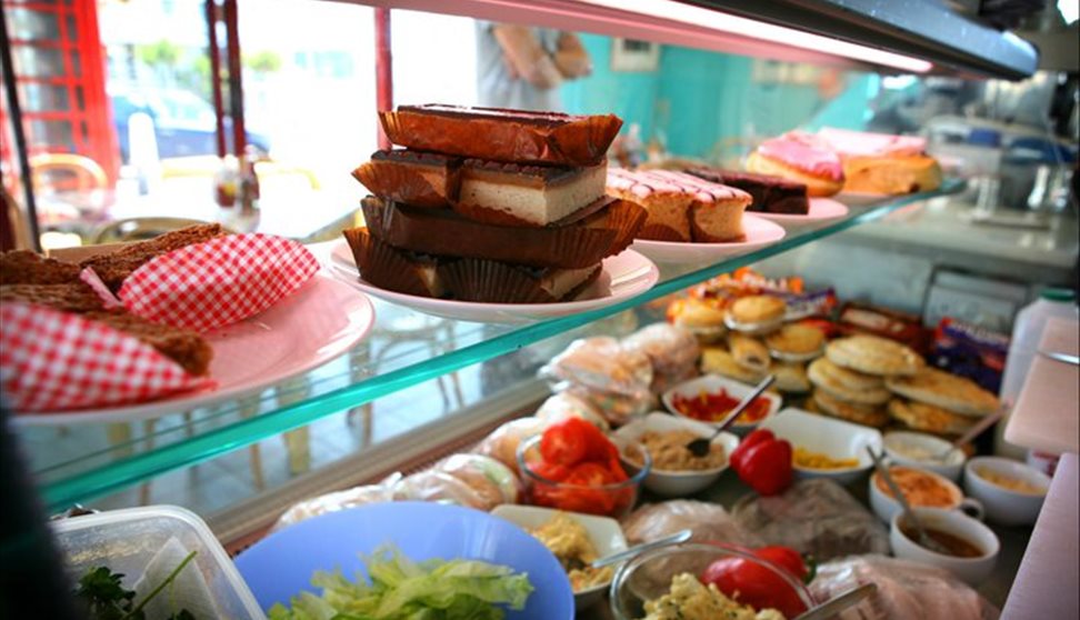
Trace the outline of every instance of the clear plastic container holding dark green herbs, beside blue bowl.
<path fill-rule="evenodd" d="M 266 619 L 221 543 L 190 510 L 148 506 L 73 517 L 50 524 L 73 580 L 93 567 L 103 566 L 123 573 L 123 586 L 131 589 L 150 559 L 170 538 L 176 538 L 188 551 L 198 551 L 192 566 L 202 572 L 221 618 Z"/>

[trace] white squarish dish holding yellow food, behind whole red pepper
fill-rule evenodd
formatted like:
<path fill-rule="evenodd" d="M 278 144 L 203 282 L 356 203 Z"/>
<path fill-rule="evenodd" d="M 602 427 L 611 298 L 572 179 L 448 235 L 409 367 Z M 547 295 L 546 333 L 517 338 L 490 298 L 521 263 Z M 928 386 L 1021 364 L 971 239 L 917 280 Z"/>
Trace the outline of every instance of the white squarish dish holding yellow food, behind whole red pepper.
<path fill-rule="evenodd" d="M 833 459 L 858 459 L 859 464 L 842 469 L 810 469 L 794 466 L 797 478 L 831 478 L 848 484 L 858 480 L 873 461 L 867 446 L 881 450 L 881 433 L 862 424 L 852 424 L 836 418 L 817 416 L 801 409 L 788 408 L 761 422 L 759 428 L 769 429 L 780 439 L 791 442 L 791 449 L 804 448 L 811 452 L 828 454 Z"/>

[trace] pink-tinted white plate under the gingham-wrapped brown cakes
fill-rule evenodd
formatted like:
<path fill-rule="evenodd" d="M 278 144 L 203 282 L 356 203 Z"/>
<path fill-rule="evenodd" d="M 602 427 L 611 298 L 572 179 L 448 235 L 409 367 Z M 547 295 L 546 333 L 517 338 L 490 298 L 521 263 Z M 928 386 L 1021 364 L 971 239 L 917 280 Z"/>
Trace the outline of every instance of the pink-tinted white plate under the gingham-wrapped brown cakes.
<path fill-rule="evenodd" d="M 214 389 L 142 404 L 14 419 L 27 426 L 132 421 L 236 400 L 329 362 L 359 342 L 373 322 L 371 300 L 320 271 L 266 312 L 207 334 L 213 347 L 210 377 L 217 381 Z"/>

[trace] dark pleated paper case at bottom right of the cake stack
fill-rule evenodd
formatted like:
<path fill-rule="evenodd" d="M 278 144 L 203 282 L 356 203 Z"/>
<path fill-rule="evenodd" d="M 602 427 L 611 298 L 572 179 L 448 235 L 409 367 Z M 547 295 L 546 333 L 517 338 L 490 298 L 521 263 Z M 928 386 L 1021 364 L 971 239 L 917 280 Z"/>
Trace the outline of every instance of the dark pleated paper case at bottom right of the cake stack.
<path fill-rule="evenodd" d="M 541 287 L 548 269 L 536 269 L 492 260 L 462 259 L 439 266 L 439 276 L 456 299 L 487 303 L 552 303 L 573 299 L 600 276 L 596 266 L 589 277 L 556 298 Z"/>

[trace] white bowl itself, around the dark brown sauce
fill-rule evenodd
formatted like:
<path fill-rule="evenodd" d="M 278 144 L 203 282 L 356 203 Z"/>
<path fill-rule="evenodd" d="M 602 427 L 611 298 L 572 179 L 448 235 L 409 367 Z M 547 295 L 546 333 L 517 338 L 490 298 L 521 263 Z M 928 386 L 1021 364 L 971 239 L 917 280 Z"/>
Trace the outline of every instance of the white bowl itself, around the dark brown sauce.
<path fill-rule="evenodd" d="M 979 586 L 990 577 L 1001 550 L 1001 543 L 990 528 L 956 510 L 940 508 L 912 510 L 923 527 L 961 538 L 978 547 L 983 553 L 978 558 L 957 558 L 931 551 L 903 533 L 900 529 L 903 516 L 897 513 L 889 529 L 889 542 L 897 558 L 943 568 L 971 586 Z"/>

